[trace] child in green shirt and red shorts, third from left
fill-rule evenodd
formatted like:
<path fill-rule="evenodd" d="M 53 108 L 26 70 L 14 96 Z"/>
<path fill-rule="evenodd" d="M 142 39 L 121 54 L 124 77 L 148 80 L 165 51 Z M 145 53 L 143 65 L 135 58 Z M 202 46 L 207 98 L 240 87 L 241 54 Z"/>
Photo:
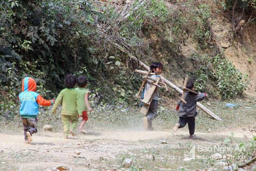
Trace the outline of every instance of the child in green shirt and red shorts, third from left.
<path fill-rule="evenodd" d="M 82 113 L 82 115 L 81 115 L 82 121 L 81 121 L 81 125 L 78 128 L 78 130 L 81 131 L 82 133 L 87 133 L 83 129 L 83 126 L 85 125 L 85 123 L 88 120 L 87 110 L 89 110 L 90 112 L 93 111 L 93 109 L 90 108 L 89 101 L 88 101 L 88 96 L 90 94 L 90 91 L 88 89 L 85 89 L 85 87 L 87 86 L 87 77 L 79 76 L 77 78 L 77 85 L 79 86 L 79 88 L 75 88 L 75 89 L 78 91 L 79 103 L 81 105 L 81 111 L 79 111 L 79 112 Z"/>

